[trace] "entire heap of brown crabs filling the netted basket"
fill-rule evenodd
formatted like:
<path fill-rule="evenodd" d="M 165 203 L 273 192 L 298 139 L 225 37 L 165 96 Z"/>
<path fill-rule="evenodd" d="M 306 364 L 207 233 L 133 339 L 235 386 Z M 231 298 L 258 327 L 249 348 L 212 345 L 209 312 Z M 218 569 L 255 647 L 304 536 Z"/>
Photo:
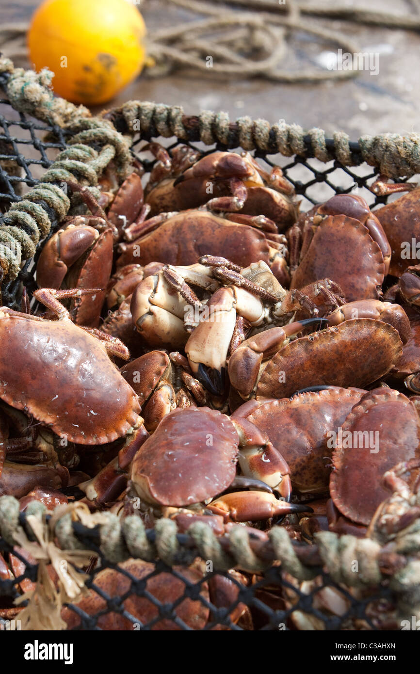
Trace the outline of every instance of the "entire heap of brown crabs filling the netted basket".
<path fill-rule="evenodd" d="M 148 179 L 140 162 L 121 186 L 104 175 L 98 201 L 69 183 L 91 214 L 44 244 L 38 309 L 25 293 L 22 311 L 0 309 L 0 493 L 22 510 L 78 498 L 220 537 L 243 526 L 266 541 L 273 524 L 309 545 L 322 530 L 396 535 L 420 513 L 420 188 L 378 183 L 408 193 L 374 212 L 344 193 L 299 212 L 281 169 L 246 152 L 143 152 Z M 0 557 L 0 577 L 22 564 Z M 126 566 L 144 578 L 150 564 Z M 231 576 L 202 592 L 251 629 L 261 615 L 235 603 L 237 580 L 259 577 Z M 126 580 L 109 569 L 97 584 L 124 594 Z M 179 584 L 158 574 L 148 589 L 175 601 Z M 345 613 L 326 590 L 320 605 Z M 280 586 L 260 595 L 294 601 Z M 142 621 L 157 611 L 126 603 Z M 104 601 L 90 591 L 81 605 Z M 209 610 L 186 599 L 177 615 L 201 629 Z M 319 626 L 299 615 L 291 626 Z"/>

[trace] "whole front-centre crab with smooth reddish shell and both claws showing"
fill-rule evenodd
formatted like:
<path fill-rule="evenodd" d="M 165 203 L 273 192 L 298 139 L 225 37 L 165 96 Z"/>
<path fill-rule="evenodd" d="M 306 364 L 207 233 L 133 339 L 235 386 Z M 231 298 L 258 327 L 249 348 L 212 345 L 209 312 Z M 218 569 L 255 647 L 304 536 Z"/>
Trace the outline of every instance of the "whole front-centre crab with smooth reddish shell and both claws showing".
<path fill-rule="evenodd" d="M 235 481 L 238 461 L 245 483 L 258 479 L 287 500 L 270 490 L 223 495 Z M 210 510 L 235 522 L 305 510 L 287 502 L 289 466 L 266 434 L 246 419 L 229 419 L 206 407 L 166 415 L 133 458 L 130 478 L 145 503 L 182 508 L 211 501 Z"/>

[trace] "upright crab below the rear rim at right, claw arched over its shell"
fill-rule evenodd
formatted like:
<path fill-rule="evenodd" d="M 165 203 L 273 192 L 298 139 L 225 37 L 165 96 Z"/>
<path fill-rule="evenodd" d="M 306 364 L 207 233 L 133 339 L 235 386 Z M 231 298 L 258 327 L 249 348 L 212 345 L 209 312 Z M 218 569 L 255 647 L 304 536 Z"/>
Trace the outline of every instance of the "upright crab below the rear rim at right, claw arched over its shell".
<path fill-rule="evenodd" d="M 291 288 L 328 276 L 347 301 L 378 299 L 390 265 L 384 230 L 365 200 L 332 197 L 289 231 Z"/>

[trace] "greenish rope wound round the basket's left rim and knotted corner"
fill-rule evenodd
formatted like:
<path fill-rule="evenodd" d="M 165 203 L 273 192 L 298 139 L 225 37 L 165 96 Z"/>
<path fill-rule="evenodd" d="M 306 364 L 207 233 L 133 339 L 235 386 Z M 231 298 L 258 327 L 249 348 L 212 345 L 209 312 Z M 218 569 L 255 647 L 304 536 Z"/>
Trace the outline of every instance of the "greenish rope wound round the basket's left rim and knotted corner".
<path fill-rule="evenodd" d="M 91 117 L 84 106 L 53 95 L 51 71 L 25 71 L 0 57 L 0 77 L 16 110 L 71 134 L 67 140 L 70 147 L 57 155 L 40 184 L 1 218 L 0 265 L 5 282 L 9 282 L 18 276 L 22 262 L 33 257 L 39 241 L 49 234 L 53 220 L 59 222 L 69 212 L 69 198 L 58 185 L 72 181 L 94 187 L 111 160 L 122 182 L 131 156 L 127 142 L 110 121 Z"/>

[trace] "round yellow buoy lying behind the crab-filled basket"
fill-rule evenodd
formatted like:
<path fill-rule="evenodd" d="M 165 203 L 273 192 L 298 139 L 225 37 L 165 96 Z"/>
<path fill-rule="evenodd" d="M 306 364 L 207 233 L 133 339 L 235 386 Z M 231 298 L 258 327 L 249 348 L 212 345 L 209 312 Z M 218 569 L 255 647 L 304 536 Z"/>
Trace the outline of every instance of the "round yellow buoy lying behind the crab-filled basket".
<path fill-rule="evenodd" d="M 142 70 L 146 26 L 130 0 L 46 0 L 28 32 L 36 70 L 55 72 L 53 89 L 76 103 L 113 98 Z"/>

